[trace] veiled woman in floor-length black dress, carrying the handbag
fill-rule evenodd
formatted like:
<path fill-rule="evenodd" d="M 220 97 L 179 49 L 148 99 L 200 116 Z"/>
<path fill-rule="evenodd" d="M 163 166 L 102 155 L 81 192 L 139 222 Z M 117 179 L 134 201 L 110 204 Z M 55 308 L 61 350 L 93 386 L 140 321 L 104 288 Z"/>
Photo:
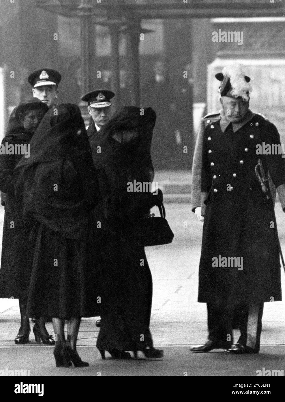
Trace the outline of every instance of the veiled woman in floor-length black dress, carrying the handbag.
<path fill-rule="evenodd" d="M 129 359 L 127 351 L 158 358 L 150 333 L 152 275 L 144 245 L 133 236 L 150 208 L 162 203 L 162 193 L 128 192 L 128 183 L 152 182 L 150 155 L 156 114 L 151 108 L 123 107 L 91 144 L 101 199 L 97 221 L 101 226 L 101 328 L 97 348 L 113 358 Z"/>

